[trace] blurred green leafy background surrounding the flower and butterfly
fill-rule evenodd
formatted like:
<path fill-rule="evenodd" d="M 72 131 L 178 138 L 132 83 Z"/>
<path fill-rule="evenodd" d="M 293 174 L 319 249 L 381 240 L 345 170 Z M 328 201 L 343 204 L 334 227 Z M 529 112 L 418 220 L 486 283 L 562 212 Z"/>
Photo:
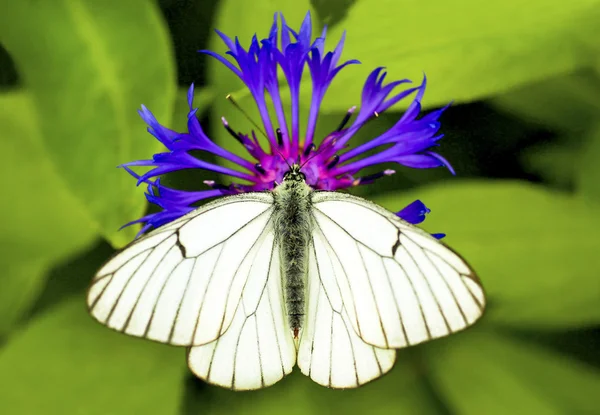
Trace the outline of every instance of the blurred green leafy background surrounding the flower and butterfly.
<path fill-rule="evenodd" d="M 249 127 L 224 97 L 250 101 L 196 51 L 223 52 L 215 27 L 247 45 L 275 11 L 298 27 L 307 10 L 362 62 L 330 88 L 322 131 L 376 66 L 425 72 L 426 110 L 453 100 L 440 153 L 456 177 L 399 168 L 356 193 L 391 210 L 423 200 L 424 227 L 468 258 L 489 307 L 358 390 L 296 370 L 235 393 L 194 379 L 183 349 L 100 326 L 84 293 L 147 209 L 115 168 L 160 150 L 136 110 L 183 131 L 195 82 L 206 130 L 235 146 L 220 116 Z M 600 413 L 599 0 L 0 0 L 0 155 L 0 414 Z"/>

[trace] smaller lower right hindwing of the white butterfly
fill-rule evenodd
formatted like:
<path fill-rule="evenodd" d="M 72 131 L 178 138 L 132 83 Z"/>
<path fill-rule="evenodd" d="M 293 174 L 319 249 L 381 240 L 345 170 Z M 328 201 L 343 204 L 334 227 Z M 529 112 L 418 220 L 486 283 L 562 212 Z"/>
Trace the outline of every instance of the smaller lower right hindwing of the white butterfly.
<path fill-rule="evenodd" d="M 328 286 L 336 284 L 337 265 L 315 237 L 309 253 L 308 313 L 300 338 L 298 367 L 320 385 L 354 388 L 389 371 L 396 351 L 361 340 L 339 295 L 328 295 L 332 289 Z"/>

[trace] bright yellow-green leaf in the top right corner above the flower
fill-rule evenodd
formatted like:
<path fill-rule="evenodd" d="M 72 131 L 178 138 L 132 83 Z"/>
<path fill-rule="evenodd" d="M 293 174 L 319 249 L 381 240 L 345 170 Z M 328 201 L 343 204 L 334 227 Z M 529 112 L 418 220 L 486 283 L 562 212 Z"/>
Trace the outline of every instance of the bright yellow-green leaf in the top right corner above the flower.
<path fill-rule="evenodd" d="M 429 79 L 424 105 L 469 102 L 590 66 L 598 51 L 598 0 L 357 1 L 329 31 L 328 44 L 348 31 L 340 72 L 324 110 L 358 104 L 364 81 L 385 66 L 390 79 Z M 310 92 L 305 90 L 306 97 Z"/>

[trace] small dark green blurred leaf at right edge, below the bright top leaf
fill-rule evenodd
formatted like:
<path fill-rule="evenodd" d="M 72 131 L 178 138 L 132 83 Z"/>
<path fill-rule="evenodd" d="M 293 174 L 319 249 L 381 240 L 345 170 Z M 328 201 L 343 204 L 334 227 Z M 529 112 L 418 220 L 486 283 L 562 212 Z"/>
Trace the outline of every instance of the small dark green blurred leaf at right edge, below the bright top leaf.
<path fill-rule="evenodd" d="M 592 71 L 534 82 L 498 95 L 490 103 L 505 112 L 566 132 L 581 132 L 600 111 L 600 79 Z"/>

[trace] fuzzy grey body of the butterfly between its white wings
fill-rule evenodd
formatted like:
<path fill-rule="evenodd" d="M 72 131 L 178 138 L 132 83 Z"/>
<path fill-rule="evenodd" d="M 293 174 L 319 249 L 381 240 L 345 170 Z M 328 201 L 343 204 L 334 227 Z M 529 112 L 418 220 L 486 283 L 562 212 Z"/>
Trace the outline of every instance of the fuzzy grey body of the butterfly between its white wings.
<path fill-rule="evenodd" d="M 305 314 L 308 249 L 312 232 L 310 193 L 304 175 L 292 169 L 273 191 L 275 235 L 279 245 L 288 322 L 295 338 Z"/>

